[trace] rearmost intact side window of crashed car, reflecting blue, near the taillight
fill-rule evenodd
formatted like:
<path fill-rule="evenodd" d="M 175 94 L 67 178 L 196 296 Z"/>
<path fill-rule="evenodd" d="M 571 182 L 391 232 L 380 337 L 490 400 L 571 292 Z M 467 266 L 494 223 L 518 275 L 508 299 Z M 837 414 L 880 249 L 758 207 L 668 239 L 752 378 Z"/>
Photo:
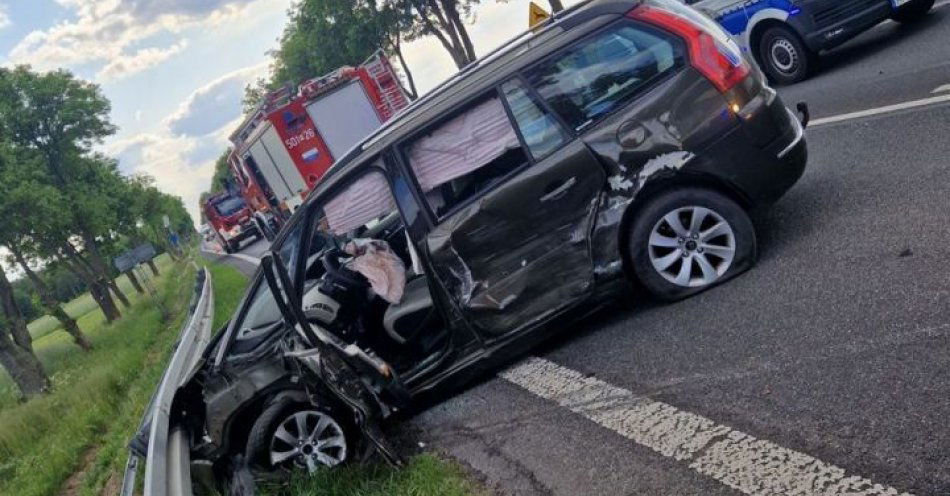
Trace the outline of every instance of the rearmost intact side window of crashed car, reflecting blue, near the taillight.
<path fill-rule="evenodd" d="M 529 82 L 575 130 L 629 102 L 686 61 L 673 35 L 623 22 L 527 72 Z"/>

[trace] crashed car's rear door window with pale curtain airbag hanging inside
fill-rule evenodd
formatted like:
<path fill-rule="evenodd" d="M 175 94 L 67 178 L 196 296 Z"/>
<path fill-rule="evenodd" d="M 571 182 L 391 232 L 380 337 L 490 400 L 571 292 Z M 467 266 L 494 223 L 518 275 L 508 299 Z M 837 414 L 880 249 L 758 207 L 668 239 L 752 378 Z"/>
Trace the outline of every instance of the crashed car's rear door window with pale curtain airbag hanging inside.
<path fill-rule="evenodd" d="M 429 207 L 439 217 L 528 164 L 494 93 L 409 141 L 403 150 Z"/>

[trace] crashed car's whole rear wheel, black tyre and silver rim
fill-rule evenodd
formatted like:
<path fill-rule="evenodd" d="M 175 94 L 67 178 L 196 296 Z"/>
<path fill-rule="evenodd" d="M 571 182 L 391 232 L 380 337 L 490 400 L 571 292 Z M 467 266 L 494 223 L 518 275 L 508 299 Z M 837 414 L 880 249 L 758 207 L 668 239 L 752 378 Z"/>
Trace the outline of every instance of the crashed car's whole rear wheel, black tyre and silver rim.
<path fill-rule="evenodd" d="M 637 212 L 628 250 L 639 282 L 657 297 L 675 301 L 748 270 L 756 258 L 755 229 L 731 199 L 685 188 Z"/>

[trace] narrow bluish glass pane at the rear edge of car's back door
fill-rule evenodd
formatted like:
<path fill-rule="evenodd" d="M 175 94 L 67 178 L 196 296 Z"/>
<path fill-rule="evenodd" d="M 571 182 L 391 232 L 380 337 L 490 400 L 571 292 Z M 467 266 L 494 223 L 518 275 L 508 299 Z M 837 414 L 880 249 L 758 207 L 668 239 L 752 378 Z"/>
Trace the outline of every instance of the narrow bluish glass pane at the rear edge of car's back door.
<path fill-rule="evenodd" d="M 568 141 L 567 132 L 527 91 L 521 80 L 501 86 L 511 115 L 521 131 L 525 146 L 535 160 L 541 160 Z"/>

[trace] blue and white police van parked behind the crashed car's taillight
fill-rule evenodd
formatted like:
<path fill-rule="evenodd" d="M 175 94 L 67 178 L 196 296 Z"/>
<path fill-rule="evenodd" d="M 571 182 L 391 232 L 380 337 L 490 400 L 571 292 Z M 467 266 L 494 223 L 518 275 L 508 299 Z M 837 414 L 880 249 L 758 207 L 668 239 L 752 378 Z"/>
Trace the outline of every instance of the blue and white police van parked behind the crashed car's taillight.
<path fill-rule="evenodd" d="M 685 0 L 717 20 L 779 84 L 805 79 L 817 54 L 872 26 L 923 18 L 934 0 Z"/>

